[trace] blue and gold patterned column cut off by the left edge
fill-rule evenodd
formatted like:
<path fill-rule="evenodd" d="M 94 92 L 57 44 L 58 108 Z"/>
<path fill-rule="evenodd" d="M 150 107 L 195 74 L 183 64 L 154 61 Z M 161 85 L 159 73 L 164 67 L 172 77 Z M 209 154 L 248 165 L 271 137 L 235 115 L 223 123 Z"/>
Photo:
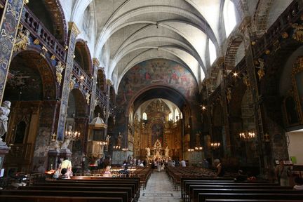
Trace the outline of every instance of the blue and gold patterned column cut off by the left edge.
<path fill-rule="evenodd" d="M 0 106 L 4 95 L 8 69 L 13 54 L 23 5 L 26 0 L 6 1 L 0 22 Z"/>

